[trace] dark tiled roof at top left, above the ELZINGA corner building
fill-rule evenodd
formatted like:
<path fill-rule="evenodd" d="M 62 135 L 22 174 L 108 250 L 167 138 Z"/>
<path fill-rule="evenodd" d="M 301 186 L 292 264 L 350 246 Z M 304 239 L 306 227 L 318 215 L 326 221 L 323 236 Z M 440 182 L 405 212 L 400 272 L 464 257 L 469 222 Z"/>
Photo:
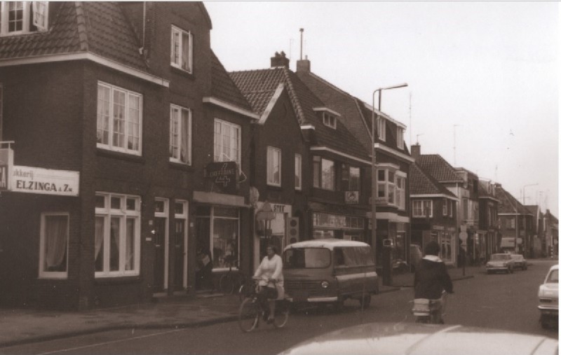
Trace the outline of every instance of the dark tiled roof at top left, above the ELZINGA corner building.
<path fill-rule="evenodd" d="M 119 4 L 114 2 L 50 3 L 48 32 L 0 37 L 0 61 L 19 58 L 94 53 L 128 67 L 148 71 L 139 41 Z"/>

